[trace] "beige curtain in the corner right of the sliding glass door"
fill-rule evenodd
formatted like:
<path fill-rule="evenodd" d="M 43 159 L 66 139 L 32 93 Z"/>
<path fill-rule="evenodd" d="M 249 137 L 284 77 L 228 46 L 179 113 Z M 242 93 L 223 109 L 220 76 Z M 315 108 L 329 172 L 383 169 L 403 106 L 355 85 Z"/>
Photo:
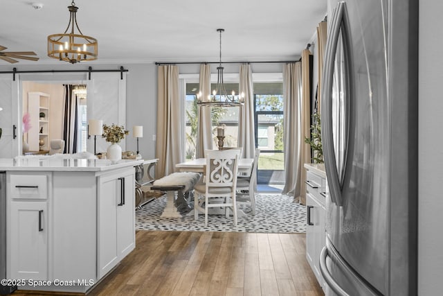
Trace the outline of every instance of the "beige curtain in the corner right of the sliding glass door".
<path fill-rule="evenodd" d="M 302 71 L 303 69 L 303 71 Z M 303 164 L 310 162 L 309 136 L 309 50 L 302 52 L 302 62 L 285 64 L 283 69 L 284 175 L 282 193 L 305 202 L 306 173 Z"/>

